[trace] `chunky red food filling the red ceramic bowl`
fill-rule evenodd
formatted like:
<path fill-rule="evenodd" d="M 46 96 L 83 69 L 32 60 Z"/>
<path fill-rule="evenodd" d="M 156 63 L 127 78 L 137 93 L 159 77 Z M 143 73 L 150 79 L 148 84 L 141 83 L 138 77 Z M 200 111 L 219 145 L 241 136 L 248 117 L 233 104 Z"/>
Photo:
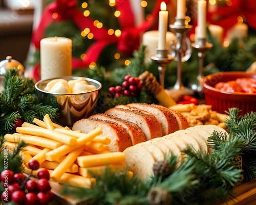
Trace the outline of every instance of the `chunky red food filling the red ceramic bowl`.
<path fill-rule="evenodd" d="M 256 79 L 238 78 L 235 81 L 219 82 L 214 86 L 216 89 L 227 92 L 256 93 Z"/>

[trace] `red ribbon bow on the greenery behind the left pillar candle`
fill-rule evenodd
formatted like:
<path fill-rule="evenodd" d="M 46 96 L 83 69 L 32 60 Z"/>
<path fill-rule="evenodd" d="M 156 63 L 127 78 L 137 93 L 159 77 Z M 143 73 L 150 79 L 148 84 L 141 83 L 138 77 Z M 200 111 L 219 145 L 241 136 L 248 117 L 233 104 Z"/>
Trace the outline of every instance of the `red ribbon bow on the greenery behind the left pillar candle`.
<path fill-rule="evenodd" d="M 109 44 L 117 44 L 117 49 L 124 55 L 131 55 L 135 49 L 138 49 L 140 45 L 140 34 L 153 25 L 157 18 L 160 4 L 164 1 L 166 4 L 170 0 L 156 0 L 156 5 L 152 12 L 150 19 L 145 20 L 138 27 L 135 27 L 134 15 L 131 9 L 130 1 L 117 0 L 116 9 L 121 12 L 118 17 L 120 26 L 122 28 L 121 36 L 109 35 L 108 29 L 102 27 L 97 28 L 93 25 L 93 19 L 83 15 L 81 11 L 77 9 L 76 0 L 56 0 L 49 4 L 42 13 L 41 20 L 37 29 L 33 31 L 32 43 L 34 43 L 37 49 L 40 48 L 40 40 L 44 38 L 44 32 L 48 25 L 54 20 L 53 14 L 58 14 L 56 21 L 71 19 L 80 30 L 89 28 L 90 32 L 94 34 L 95 42 L 86 50 L 86 59 L 80 60 L 77 58 L 72 59 L 72 67 L 74 69 L 86 67 L 91 62 L 96 62 L 100 53 Z"/>

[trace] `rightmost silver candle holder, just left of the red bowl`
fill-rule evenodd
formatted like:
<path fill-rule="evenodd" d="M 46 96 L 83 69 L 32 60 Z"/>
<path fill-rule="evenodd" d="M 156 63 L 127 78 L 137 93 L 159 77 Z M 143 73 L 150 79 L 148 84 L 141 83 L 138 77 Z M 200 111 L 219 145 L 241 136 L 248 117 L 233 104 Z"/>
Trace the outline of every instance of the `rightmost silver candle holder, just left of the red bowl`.
<path fill-rule="evenodd" d="M 197 76 L 197 81 L 190 85 L 191 89 L 195 92 L 197 97 L 202 98 L 204 96 L 203 93 L 203 78 L 204 78 L 204 57 L 206 50 L 212 47 L 211 43 L 208 43 L 206 38 L 198 38 L 195 43 L 192 44 L 192 47 L 197 49 L 197 54 L 199 57 L 199 72 Z"/>

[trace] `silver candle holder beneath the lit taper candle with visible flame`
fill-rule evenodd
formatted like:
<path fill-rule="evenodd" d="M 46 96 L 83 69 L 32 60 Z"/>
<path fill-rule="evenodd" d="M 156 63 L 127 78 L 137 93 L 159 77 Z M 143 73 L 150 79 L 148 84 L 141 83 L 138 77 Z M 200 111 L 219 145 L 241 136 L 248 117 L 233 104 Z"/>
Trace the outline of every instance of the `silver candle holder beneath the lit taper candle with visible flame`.
<path fill-rule="evenodd" d="M 167 49 L 157 48 L 157 54 L 152 55 L 150 58 L 151 60 L 153 60 L 158 64 L 159 81 L 160 81 L 160 85 L 164 88 L 164 76 L 165 76 L 166 65 L 169 64 L 174 59 L 174 57 L 168 54 Z"/>

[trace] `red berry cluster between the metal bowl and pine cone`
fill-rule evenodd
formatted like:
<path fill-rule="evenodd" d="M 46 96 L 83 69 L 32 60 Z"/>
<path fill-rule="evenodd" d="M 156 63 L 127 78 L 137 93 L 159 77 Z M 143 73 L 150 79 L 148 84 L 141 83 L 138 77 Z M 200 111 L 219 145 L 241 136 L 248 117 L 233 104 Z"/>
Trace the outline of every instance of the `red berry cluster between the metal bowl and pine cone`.
<path fill-rule="evenodd" d="M 125 75 L 122 86 L 109 88 L 109 97 L 116 98 L 120 96 L 133 96 L 136 97 L 140 94 L 141 88 L 143 87 L 139 78 L 132 77 L 131 75 Z"/>

